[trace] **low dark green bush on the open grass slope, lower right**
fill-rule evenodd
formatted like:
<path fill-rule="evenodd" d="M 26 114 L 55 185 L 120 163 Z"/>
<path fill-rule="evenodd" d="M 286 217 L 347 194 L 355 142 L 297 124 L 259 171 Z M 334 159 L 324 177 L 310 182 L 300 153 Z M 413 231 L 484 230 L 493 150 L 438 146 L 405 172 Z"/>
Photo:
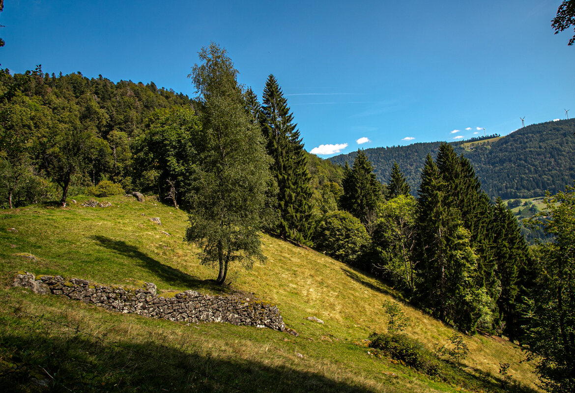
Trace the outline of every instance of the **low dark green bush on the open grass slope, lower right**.
<path fill-rule="evenodd" d="M 392 359 L 399 360 L 409 367 L 427 375 L 440 375 L 441 364 L 438 359 L 425 348 L 423 343 L 407 336 L 407 334 L 372 334 L 371 348 L 379 349 Z"/>

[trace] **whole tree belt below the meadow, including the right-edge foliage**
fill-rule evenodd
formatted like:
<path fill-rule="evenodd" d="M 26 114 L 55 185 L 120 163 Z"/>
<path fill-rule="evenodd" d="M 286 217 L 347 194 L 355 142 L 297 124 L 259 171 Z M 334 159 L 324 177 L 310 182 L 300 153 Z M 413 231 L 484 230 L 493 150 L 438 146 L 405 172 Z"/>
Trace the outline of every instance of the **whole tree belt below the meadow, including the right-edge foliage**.
<path fill-rule="evenodd" d="M 425 157 L 412 190 L 397 163 L 388 186 L 363 151 L 346 164 L 339 211 L 325 214 L 316 247 L 370 270 L 405 298 L 462 332 L 519 341 L 551 392 L 575 383 L 575 189 L 546 197 L 529 226 L 549 240 L 528 248 L 519 222 L 482 191 L 451 144 Z"/>

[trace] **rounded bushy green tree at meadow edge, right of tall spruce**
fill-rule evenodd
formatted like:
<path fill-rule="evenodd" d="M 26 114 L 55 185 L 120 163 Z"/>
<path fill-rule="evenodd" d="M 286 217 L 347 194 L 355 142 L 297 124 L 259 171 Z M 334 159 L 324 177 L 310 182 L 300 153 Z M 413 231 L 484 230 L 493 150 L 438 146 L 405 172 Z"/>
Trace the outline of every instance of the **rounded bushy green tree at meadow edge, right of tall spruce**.
<path fill-rule="evenodd" d="M 351 265 L 360 265 L 370 238 L 358 218 L 347 211 L 325 214 L 317 225 L 313 242 L 317 249 Z"/>

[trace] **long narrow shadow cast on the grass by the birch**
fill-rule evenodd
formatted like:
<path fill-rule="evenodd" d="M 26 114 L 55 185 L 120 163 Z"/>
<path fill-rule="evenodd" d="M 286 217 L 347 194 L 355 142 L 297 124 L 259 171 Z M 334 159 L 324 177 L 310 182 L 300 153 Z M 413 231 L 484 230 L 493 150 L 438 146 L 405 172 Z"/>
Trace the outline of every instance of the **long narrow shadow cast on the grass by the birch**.
<path fill-rule="evenodd" d="M 90 236 L 92 240 L 99 242 L 103 247 L 116 251 L 121 255 L 141 261 L 146 269 L 160 277 L 165 282 L 174 286 L 186 287 L 194 290 L 208 289 L 216 292 L 227 292 L 228 288 L 220 286 L 214 280 L 201 280 L 179 269 L 164 265 L 158 260 L 141 252 L 133 245 L 122 240 L 113 240 L 104 236 Z"/>

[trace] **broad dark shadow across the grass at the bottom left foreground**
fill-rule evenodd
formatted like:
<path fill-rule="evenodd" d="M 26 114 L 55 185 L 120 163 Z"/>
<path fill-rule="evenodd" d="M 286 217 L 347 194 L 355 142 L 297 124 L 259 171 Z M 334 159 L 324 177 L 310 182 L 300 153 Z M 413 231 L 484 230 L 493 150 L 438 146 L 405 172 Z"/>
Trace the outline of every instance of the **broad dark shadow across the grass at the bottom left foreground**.
<path fill-rule="evenodd" d="M 371 391 L 291 367 L 214 359 L 209 350 L 197 353 L 190 348 L 191 334 L 178 341 L 110 344 L 77 332 L 59 337 L 6 334 L 0 353 L 11 353 L 10 361 L 20 367 L 0 375 L 0 391 L 44 391 L 37 386 L 39 380 L 47 384 L 45 391 L 74 392 Z"/>

